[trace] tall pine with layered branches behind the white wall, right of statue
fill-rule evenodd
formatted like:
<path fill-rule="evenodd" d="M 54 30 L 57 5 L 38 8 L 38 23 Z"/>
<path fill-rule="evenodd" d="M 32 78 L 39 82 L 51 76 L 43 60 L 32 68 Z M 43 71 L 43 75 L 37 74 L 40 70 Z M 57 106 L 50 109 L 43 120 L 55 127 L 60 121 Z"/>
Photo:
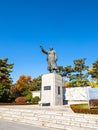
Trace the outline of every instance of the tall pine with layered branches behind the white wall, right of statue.
<path fill-rule="evenodd" d="M 68 76 L 71 86 L 88 86 L 88 68 L 85 65 L 85 58 L 74 60 L 73 72 Z"/>

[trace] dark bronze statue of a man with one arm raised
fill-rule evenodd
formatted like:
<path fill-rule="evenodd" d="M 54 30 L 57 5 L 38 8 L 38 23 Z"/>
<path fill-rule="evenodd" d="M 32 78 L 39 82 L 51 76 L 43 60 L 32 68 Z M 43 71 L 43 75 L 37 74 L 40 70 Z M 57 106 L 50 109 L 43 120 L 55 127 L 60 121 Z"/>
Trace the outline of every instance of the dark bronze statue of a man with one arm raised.
<path fill-rule="evenodd" d="M 57 55 L 53 48 L 50 48 L 50 51 L 45 50 L 42 46 L 40 46 L 43 53 L 47 54 L 47 62 L 48 62 L 48 70 L 52 73 L 57 70 Z"/>

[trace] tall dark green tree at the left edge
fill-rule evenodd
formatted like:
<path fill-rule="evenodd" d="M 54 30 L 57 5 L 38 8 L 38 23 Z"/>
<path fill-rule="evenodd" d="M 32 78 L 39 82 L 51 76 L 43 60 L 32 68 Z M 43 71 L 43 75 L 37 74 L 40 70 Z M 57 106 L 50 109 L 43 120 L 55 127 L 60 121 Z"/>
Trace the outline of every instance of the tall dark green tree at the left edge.
<path fill-rule="evenodd" d="M 8 58 L 0 59 L 0 102 L 9 101 L 9 91 L 12 86 L 10 73 L 13 64 L 8 64 Z"/>

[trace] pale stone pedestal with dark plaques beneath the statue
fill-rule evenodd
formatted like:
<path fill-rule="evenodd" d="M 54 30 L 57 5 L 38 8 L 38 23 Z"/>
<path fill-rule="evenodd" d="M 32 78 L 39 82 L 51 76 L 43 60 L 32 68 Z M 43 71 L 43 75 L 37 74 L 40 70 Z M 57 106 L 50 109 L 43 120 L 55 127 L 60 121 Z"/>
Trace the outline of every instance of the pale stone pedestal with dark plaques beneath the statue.
<path fill-rule="evenodd" d="M 42 76 L 42 105 L 63 105 L 62 82 L 62 77 L 56 73 L 44 74 Z"/>

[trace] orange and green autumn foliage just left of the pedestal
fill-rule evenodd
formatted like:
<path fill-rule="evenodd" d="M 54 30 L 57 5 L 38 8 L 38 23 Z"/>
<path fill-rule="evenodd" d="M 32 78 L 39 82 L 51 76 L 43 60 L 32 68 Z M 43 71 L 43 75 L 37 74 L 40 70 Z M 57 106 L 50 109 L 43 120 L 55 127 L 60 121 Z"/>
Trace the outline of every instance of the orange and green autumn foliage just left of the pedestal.
<path fill-rule="evenodd" d="M 31 91 L 37 91 L 41 89 L 41 77 L 31 79 L 31 76 L 21 75 L 16 82 L 15 93 L 18 96 L 31 95 Z M 13 89 L 12 89 L 13 90 Z"/>

